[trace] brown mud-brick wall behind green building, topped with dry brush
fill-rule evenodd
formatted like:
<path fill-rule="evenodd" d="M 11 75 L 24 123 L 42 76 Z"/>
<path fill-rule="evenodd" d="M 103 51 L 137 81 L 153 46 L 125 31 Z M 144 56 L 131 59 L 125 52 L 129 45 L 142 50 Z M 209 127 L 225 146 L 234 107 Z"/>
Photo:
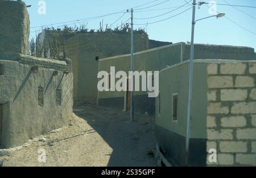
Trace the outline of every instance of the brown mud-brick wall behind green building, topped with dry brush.
<path fill-rule="evenodd" d="M 148 49 L 148 36 L 134 34 L 134 52 Z M 130 53 L 130 34 L 77 34 L 65 43 L 67 57 L 73 61 L 74 103 L 96 104 L 98 59 Z"/>

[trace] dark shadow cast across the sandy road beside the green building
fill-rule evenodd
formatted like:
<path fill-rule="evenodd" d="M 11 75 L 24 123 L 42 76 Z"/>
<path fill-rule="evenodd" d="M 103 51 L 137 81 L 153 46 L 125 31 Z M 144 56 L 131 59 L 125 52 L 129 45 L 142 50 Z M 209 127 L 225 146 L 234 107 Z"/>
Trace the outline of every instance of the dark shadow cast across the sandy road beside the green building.
<path fill-rule="evenodd" d="M 135 115 L 130 122 L 123 111 L 98 106 L 80 106 L 74 113 L 84 119 L 113 149 L 108 166 L 155 166 L 153 134 L 154 116 Z"/>

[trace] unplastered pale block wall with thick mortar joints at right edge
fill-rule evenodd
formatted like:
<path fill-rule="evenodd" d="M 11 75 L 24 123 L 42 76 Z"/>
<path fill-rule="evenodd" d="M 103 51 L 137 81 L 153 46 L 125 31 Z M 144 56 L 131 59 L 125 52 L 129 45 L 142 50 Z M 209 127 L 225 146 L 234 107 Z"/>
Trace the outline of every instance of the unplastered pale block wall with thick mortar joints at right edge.
<path fill-rule="evenodd" d="M 208 64 L 208 165 L 256 165 L 255 84 L 256 61 Z"/>

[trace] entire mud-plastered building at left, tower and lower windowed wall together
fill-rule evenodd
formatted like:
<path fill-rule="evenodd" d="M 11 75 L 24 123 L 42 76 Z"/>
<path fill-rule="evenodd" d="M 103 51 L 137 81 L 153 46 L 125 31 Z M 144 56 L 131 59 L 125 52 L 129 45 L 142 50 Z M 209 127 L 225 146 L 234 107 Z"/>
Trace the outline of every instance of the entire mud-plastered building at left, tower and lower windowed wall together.
<path fill-rule="evenodd" d="M 0 147 L 67 125 L 73 116 L 69 59 L 28 56 L 30 19 L 21 1 L 0 1 Z"/>

